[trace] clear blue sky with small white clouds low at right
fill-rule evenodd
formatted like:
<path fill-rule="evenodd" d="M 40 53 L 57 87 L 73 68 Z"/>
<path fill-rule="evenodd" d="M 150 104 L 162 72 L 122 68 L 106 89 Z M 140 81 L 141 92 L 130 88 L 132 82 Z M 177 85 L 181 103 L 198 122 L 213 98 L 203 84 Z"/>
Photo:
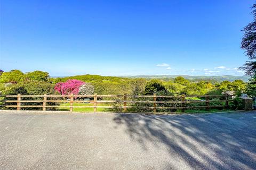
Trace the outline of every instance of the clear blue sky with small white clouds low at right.
<path fill-rule="evenodd" d="M 255 1 L 0 1 L 0 69 L 243 75 Z"/>

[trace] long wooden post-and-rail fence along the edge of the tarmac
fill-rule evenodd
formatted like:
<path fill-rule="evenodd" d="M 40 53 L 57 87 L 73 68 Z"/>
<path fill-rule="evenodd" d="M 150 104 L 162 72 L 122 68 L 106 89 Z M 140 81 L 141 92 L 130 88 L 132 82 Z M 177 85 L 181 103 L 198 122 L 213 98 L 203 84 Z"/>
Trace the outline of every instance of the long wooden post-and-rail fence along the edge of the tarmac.
<path fill-rule="evenodd" d="M 5 99 L 7 98 L 17 98 L 17 100 L 3 100 L 4 107 L 6 108 L 17 108 L 18 111 L 21 108 L 42 108 L 43 111 L 46 111 L 46 108 L 69 108 L 70 112 L 73 112 L 73 108 L 93 108 L 94 112 L 97 112 L 97 108 L 121 108 L 123 112 L 127 112 L 127 108 L 145 108 L 153 110 L 153 113 L 157 112 L 157 109 L 181 109 L 182 112 L 185 112 L 185 109 L 191 108 L 205 108 L 208 111 L 210 108 L 214 107 L 229 107 L 229 101 L 232 101 L 230 95 L 193 95 L 193 96 L 157 96 L 154 95 L 6 95 L 2 96 Z M 115 100 L 102 100 L 103 97 L 107 98 L 120 98 Z M 191 100 L 191 97 L 205 98 L 202 100 Z M 22 100 L 22 98 L 26 98 Z M 28 100 L 28 98 L 36 98 L 36 100 Z M 42 98 L 42 99 L 38 99 Z M 52 100 L 50 98 L 58 98 L 57 100 Z M 63 98 L 63 100 L 60 100 Z M 81 98 L 91 98 L 93 100 L 79 100 Z M 100 98 L 100 99 L 99 99 Z M 130 98 L 128 100 L 127 98 Z M 137 100 L 141 98 L 142 100 Z M 159 101 L 157 99 L 164 99 L 165 101 Z M 210 98 L 215 98 L 211 99 Z M 217 99 L 216 99 L 217 98 Z M 221 98 L 221 99 L 218 99 Z M 171 100 L 171 99 L 174 99 Z M 210 103 L 219 102 L 221 105 L 210 105 Z M 17 103 L 17 105 L 9 105 L 11 103 Z M 42 103 L 42 105 L 22 105 L 23 103 Z M 59 105 L 49 105 L 49 103 L 69 103 L 69 106 L 59 106 Z M 91 103 L 93 106 L 74 106 L 74 103 Z M 122 106 L 97 106 L 97 103 L 119 103 Z M 151 106 L 135 106 L 132 104 L 152 104 Z M 204 106 L 186 106 L 187 104 L 193 103 L 203 103 Z M 48 104 L 48 105 L 47 105 Z M 127 106 L 127 104 L 131 104 Z M 159 106 L 159 104 L 178 104 L 180 106 Z"/>

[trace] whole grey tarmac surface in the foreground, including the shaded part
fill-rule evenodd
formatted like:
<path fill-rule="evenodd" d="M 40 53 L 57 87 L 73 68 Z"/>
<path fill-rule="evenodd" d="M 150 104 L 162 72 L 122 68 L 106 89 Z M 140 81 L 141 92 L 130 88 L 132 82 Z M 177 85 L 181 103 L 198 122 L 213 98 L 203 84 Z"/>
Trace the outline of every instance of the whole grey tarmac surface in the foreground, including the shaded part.
<path fill-rule="evenodd" d="M 0 169 L 256 169 L 256 112 L 0 113 Z"/>

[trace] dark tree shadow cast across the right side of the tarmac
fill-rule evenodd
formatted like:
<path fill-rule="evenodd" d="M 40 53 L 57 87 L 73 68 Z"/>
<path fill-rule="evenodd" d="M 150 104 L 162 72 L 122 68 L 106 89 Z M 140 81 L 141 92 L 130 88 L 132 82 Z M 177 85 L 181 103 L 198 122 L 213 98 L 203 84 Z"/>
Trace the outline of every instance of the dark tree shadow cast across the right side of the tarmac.
<path fill-rule="evenodd" d="M 118 126 L 147 150 L 167 147 L 192 169 L 256 169 L 254 113 L 117 114 Z M 179 164 L 179 162 L 177 163 Z M 169 166 L 170 167 L 170 166 Z"/>

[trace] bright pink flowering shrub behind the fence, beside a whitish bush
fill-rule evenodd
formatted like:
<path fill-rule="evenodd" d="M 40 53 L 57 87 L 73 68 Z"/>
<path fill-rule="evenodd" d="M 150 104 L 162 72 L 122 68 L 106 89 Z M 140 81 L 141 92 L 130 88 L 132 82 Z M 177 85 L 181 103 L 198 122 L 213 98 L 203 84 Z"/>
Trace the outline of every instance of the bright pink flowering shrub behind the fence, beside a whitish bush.
<path fill-rule="evenodd" d="M 79 92 L 79 88 L 85 84 L 85 82 L 80 80 L 68 80 L 66 82 L 60 82 L 55 84 L 54 89 L 58 91 L 61 95 L 77 95 Z"/>

